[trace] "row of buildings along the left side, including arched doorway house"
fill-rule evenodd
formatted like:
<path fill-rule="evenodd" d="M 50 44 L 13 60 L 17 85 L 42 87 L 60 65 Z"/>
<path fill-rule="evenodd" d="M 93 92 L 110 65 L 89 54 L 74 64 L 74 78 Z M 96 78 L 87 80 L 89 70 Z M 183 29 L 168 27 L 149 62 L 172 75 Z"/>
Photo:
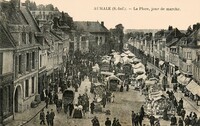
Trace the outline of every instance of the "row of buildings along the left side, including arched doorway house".
<path fill-rule="evenodd" d="M 102 51 L 109 37 L 103 22 L 67 24 L 67 13 L 30 11 L 20 0 L 0 6 L 0 124 L 31 107 L 43 89 L 64 77 L 73 54 Z M 106 51 L 104 49 L 103 51 Z"/>

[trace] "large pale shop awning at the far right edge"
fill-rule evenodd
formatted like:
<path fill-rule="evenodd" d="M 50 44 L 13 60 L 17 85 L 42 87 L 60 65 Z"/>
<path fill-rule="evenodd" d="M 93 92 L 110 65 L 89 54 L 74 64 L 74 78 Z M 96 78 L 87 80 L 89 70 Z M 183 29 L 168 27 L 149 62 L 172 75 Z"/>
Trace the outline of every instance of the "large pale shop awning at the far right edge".
<path fill-rule="evenodd" d="M 195 82 L 195 81 L 191 81 L 186 88 L 188 89 L 188 91 L 190 91 L 193 95 L 198 95 L 200 96 L 200 86 Z"/>

